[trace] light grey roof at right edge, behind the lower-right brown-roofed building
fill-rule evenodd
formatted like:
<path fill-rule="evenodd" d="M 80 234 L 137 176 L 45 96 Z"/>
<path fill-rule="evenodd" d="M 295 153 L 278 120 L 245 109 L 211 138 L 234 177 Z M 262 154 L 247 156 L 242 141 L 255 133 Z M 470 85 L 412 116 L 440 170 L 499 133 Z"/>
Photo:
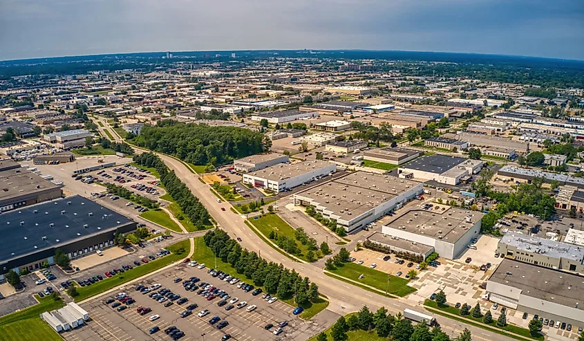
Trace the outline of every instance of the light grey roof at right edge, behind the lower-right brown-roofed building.
<path fill-rule="evenodd" d="M 499 243 L 514 246 L 518 250 L 531 253 L 540 253 L 552 258 L 566 258 L 579 261 L 582 264 L 584 259 L 584 248 L 568 243 L 560 243 L 540 237 L 528 236 L 526 234 L 506 233 Z"/>

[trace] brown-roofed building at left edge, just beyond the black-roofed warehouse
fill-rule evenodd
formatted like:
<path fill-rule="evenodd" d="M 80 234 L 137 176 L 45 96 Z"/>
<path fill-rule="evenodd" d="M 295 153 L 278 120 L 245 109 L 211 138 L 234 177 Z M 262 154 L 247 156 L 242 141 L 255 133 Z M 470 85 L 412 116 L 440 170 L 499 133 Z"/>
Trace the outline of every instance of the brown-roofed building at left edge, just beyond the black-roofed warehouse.
<path fill-rule="evenodd" d="M 35 169 L 35 168 L 33 168 Z M 0 212 L 57 199 L 61 188 L 12 160 L 0 161 Z"/>

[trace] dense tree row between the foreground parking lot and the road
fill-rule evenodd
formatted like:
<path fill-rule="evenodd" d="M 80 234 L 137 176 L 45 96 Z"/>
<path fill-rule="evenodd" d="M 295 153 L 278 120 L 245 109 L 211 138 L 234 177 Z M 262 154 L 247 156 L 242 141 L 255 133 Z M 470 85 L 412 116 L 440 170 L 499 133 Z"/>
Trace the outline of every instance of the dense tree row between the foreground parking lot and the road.
<path fill-rule="evenodd" d="M 203 237 L 205 245 L 222 261 L 233 266 L 237 273 L 252 279 L 256 286 L 263 286 L 267 293 L 280 299 L 294 298 L 296 304 L 308 304 L 319 298 L 319 286 L 302 277 L 296 270 L 282 264 L 267 262 L 254 251 L 248 251 L 223 230 L 211 230 Z"/>

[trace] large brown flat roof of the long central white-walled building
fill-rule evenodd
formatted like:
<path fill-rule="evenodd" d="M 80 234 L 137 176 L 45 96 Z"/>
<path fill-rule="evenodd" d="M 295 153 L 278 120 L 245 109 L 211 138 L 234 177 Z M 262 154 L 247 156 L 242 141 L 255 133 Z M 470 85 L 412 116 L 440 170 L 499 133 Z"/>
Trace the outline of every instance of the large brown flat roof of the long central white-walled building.
<path fill-rule="evenodd" d="M 350 220 L 417 185 L 420 183 L 395 176 L 357 171 L 296 193 L 294 198 L 312 200 Z"/>

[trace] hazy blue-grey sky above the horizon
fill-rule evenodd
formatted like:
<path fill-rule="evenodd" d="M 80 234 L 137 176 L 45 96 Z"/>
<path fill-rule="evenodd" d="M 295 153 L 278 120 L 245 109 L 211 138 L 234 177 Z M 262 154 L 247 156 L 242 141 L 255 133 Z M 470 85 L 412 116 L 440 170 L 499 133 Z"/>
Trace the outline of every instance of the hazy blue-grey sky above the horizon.
<path fill-rule="evenodd" d="M 0 0 L 0 60 L 367 49 L 584 60 L 583 0 Z"/>

